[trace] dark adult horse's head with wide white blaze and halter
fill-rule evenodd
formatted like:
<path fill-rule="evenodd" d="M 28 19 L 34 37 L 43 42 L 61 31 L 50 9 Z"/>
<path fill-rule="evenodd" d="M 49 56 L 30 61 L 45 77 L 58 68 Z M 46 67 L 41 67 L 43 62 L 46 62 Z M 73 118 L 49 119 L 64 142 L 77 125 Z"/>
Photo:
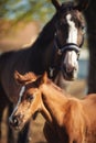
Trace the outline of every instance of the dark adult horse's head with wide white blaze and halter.
<path fill-rule="evenodd" d="M 85 21 L 82 11 L 86 9 L 86 0 L 75 6 L 73 2 L 60 4 L 52 0 L 56 8 L 54 48 L 57 58 L 62 59 L 61 70 L 66 80 L 74 80 L 78 73 L 78 56 L 84 42 Z M 57 65 L 57 64 L 54 64 Z M 56 68 L 56 67 L 54 67 Z"/>

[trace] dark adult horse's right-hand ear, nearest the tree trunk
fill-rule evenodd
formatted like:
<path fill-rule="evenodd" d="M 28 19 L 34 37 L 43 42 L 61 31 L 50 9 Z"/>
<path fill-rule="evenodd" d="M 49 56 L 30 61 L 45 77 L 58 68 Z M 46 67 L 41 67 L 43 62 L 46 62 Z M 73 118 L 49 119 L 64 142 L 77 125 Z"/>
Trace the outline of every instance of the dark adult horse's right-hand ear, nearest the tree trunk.
<path fill-rule="evenodd" d="M 89 0 L 79 0 L 78 4 L 75 7 L 78 11 L 84 11 L 88 8 Z"/>

